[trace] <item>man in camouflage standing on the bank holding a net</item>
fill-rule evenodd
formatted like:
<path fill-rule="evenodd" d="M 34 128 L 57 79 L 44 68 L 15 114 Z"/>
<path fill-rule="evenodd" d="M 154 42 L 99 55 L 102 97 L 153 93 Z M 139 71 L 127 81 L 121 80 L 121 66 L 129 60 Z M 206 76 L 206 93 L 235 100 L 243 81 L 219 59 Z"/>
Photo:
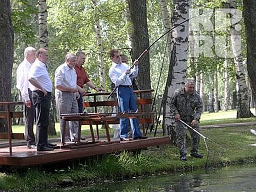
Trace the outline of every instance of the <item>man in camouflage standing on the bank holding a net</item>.
<path fill-rule="evenodd" d="M 201 97 L 195 91 L 195 82 L 187 80 L 184 88 L 176 89 L 170 99 L 171 112 L 175 115 L 176 121 L 176 144 L 180 150 L 180 159 L 186 159 L 186 129 L 190 131 L 192 137 L 191 156 L 202 158 L 203 155 L 198 153 L 199 135 L 190 128 L 186 128 L 179 120 L 183 120 L 188 125 L 191 125 L 195 130 L 200 132 L 199 119 L 202 114 L 203 104 Z"/>

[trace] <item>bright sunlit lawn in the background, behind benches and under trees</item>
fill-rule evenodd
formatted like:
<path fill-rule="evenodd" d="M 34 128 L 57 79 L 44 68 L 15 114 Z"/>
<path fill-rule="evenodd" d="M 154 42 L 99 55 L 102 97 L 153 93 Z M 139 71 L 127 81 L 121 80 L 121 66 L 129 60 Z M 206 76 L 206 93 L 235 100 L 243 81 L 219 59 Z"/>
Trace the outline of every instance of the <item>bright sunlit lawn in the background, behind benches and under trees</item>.
<path fill-rule="evenodd" d="M 251 109 L 252 113 L 255 115 L 255 109 Z M 254 118 L 243 118 L 243 119 L 236 119 L 236 110 L 229 110 L 229 111 L 219 111 L 219 112 L 204 112 L 201 117 L 200 125 L 216 125 L 216 124 L 224 124 L 224 123 L 236 123 L 236 122 L 251 122 L 255 121 Z M 110 126 L 111 127 L 111 126 Z M 96 130 L 96 126 L 94 126 Z M 57 137 L 60 135 L 60 123 L 55 123 L 55 130 L 57 131 Z M 114 132 L 113 129 L 109 129 L 110 133 Z M 25 133 L 25 128 L 23 125 L 21 126 L 13 126 L 14 133 Z M 34 132 L 36 133 L 36 126 L 34 126 Z M 99 133 L 105 133 L 104 129 L 101 129 L 99 126 Z M 89 126 L 82 126 L 82 134 L 90 134 L 90 127 Z M 56 137 L 56 136 L 55 136 Z"/>

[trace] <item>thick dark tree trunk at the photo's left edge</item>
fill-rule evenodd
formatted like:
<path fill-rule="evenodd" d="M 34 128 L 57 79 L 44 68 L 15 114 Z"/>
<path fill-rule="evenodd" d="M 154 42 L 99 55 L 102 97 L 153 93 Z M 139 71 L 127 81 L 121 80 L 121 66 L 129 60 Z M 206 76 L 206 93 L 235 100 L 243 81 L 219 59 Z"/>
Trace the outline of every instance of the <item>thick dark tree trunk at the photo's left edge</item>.
<path fill-rule="evenodd" d="M 10 11 L 10 1 L 0 1 L 0 100 L 10 101 L 14 53 L 14 32 Z M 0 110 L 6 110 L 0 107 Z M 7 132 L 7 120 L 0 119 L 0 131 Z"/>

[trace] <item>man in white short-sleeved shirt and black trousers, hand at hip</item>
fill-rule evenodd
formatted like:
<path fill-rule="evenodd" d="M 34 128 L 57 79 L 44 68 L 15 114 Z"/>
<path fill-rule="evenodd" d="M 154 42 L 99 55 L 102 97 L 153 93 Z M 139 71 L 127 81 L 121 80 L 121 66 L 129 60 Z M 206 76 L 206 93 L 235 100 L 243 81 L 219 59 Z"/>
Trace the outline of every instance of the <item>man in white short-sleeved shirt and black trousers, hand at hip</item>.
<path fill-rule="evenodd" d="M 48 51 L 40 48 L 36 52 L 36 61 L 32 64 L 28 81 L 32 91 L 32 102 L 36 108 L 37 151 L 52 151 L 48 143 L 48 125 L 52 82 L 47 71 Z"/>

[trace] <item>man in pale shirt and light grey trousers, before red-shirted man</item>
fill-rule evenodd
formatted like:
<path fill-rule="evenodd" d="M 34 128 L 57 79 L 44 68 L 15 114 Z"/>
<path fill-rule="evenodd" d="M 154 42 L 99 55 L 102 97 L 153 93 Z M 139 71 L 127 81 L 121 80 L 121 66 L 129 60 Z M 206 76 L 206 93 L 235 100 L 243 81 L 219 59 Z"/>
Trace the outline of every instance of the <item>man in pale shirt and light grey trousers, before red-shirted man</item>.
<path fill-rule="evenodd" d="M 76 55 L 68 53 L 65 57 L 65 63 L 60 65 L 55 71 L 54 86 L 58 114 L 77 114 L 79 112 L 77 99 L 79 99 L 79 90 L 82 88 L 76 85 L 77 75 L 74 69 L 75 64 Z M 60 119 L 61 142 L 62 131 L 64 129 L 63 123 L 64 121 Z M 77 121 L 66 123 L 66 142 L 77 142 L 78 127 Z"/>

